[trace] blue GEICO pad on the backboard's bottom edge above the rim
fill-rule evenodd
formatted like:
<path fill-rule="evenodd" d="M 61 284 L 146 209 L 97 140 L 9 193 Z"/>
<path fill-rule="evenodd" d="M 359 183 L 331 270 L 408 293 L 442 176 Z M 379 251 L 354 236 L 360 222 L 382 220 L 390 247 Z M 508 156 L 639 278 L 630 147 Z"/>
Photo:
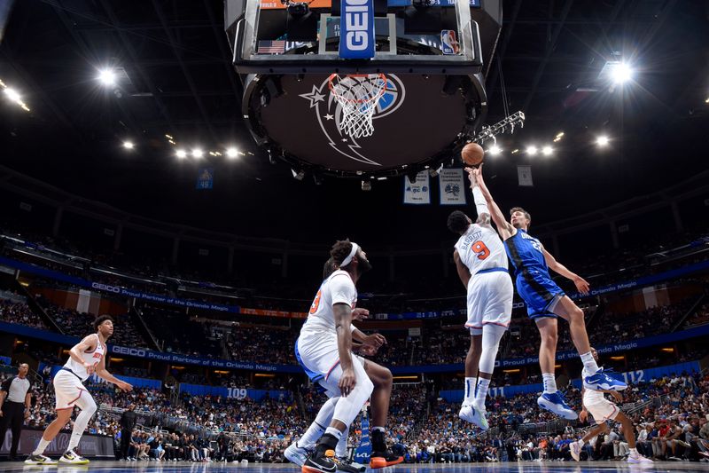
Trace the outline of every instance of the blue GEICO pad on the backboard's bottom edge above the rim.
<path fill-rule="evenodd" d="M 339 57 L 374 57 L 374 0 L 341 0 Z"/>

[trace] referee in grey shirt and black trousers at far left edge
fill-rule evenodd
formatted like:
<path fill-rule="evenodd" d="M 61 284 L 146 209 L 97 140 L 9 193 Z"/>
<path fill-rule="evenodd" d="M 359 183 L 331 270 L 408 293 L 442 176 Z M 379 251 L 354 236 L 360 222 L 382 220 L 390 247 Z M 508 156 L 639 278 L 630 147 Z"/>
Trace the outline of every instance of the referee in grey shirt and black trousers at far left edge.
<path fill-rule="evenodd" d="M 10 448 L 10 460 L 17 460 L 17 447 L 19 445 L 19 433 L 22 430 L 22 421 L 29 417 L 31 408 L 31 396 L 29 389 L 32 382 L 27 379 L 29 365 L 22 363 L 19 365 L 17 376 L 5 380 L 0 386 L 0 445 L 4 443 L 7 428 L 12 429 L 12 447 Z"/>

